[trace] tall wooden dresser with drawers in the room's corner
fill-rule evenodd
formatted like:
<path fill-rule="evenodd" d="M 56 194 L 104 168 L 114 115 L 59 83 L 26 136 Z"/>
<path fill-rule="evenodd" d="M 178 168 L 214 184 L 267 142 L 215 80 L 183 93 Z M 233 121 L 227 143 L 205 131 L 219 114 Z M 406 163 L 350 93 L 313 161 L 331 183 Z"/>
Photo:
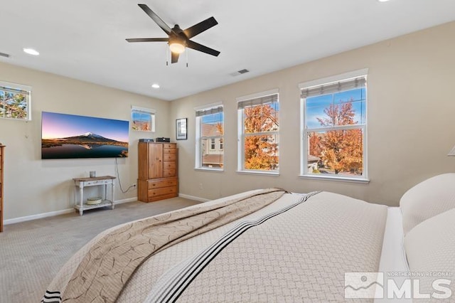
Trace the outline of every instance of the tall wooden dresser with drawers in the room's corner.
<path fill-rule="evenodd" d="M 177 144 L 139 142 L 139 201 L 153 202 L 178 196 Z"/>

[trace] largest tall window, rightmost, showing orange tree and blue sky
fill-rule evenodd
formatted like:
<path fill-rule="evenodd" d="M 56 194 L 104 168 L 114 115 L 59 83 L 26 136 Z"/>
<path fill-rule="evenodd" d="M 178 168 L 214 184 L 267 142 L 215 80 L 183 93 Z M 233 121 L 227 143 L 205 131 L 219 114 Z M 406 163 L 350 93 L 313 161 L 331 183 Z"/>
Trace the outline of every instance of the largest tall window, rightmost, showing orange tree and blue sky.
<path fill-rule="evenodd" d="M 301 87 L 301 102 L 301 174 L 366 180 L 366 75 Z"/>

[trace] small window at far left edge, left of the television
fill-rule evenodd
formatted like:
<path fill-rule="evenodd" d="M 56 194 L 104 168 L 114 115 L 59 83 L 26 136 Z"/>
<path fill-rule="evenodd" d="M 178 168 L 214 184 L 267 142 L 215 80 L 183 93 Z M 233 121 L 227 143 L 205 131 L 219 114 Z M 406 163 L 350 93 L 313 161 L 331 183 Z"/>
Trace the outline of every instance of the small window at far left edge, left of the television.
<path fill-rule="evenodd" d="M 31 120 L 31 87 L 0 82 L 0 117 Z"/>

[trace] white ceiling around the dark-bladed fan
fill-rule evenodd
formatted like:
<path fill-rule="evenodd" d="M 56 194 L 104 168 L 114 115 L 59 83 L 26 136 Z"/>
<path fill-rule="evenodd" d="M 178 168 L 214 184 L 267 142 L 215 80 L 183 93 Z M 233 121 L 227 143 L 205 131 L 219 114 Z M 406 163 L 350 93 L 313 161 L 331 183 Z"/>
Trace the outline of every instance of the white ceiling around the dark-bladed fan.
<path fill-rule="evenodd" d="M 187 49 L 166 66 L 165 42 L 127 43 L 166 38 L 138 3 L 170 27 L 214 16 L 191 40 L 220 55 Z M 454 0 L 4 0 L 0 52 L 11 57 L 0 61 L 175 100 L 454 20 Z"/>

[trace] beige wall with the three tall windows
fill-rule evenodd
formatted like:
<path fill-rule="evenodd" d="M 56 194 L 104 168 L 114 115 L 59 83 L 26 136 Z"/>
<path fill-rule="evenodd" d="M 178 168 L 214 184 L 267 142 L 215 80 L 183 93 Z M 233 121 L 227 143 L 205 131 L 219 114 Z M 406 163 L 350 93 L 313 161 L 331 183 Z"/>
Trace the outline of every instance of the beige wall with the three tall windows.
<path fill-rule="evenodd" d="M 454 171 L 455 159 L 446 156 L 455 144 L 454 35 L 455 23 L 447 23 L 173 101 L 171 120 L 188 117 L 188 140 L 178 141 L 180 193 L 218 198 L 280 186 L 298 192 L 334 191 L 396 206 L 417 182 Z M 299 179 L 299 83 L 362 68 L 369 70 L 370 183 Z M 274 88 L 279 89 L 280 102 L 280 174 L 237 174 L 235 98 Z M 225 171 L 195 171 L 193 108 L 218 101 L 224 102 Z"/>

